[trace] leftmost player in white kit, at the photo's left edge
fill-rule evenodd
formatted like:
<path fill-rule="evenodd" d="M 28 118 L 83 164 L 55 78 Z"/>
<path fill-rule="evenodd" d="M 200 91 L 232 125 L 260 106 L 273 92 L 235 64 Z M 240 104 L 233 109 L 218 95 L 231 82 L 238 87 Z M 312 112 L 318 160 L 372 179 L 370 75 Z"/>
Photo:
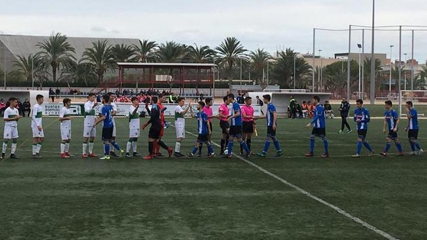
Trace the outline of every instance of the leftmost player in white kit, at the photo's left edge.
<path fill-rule="evenodd" d="M 3 151 L 1 159 L 4 159 L 8 142 L 12 139 L 12 150 L 10 151 L 11 159 L 18 159 L 15 155 L 16 140 L 18 139 L 18 120 L 21 118 L 16 105 L 18 104 L 16 97 L 9 98 L 10 107 L 4 111 L 4 133 L 3 133 Z"/>

